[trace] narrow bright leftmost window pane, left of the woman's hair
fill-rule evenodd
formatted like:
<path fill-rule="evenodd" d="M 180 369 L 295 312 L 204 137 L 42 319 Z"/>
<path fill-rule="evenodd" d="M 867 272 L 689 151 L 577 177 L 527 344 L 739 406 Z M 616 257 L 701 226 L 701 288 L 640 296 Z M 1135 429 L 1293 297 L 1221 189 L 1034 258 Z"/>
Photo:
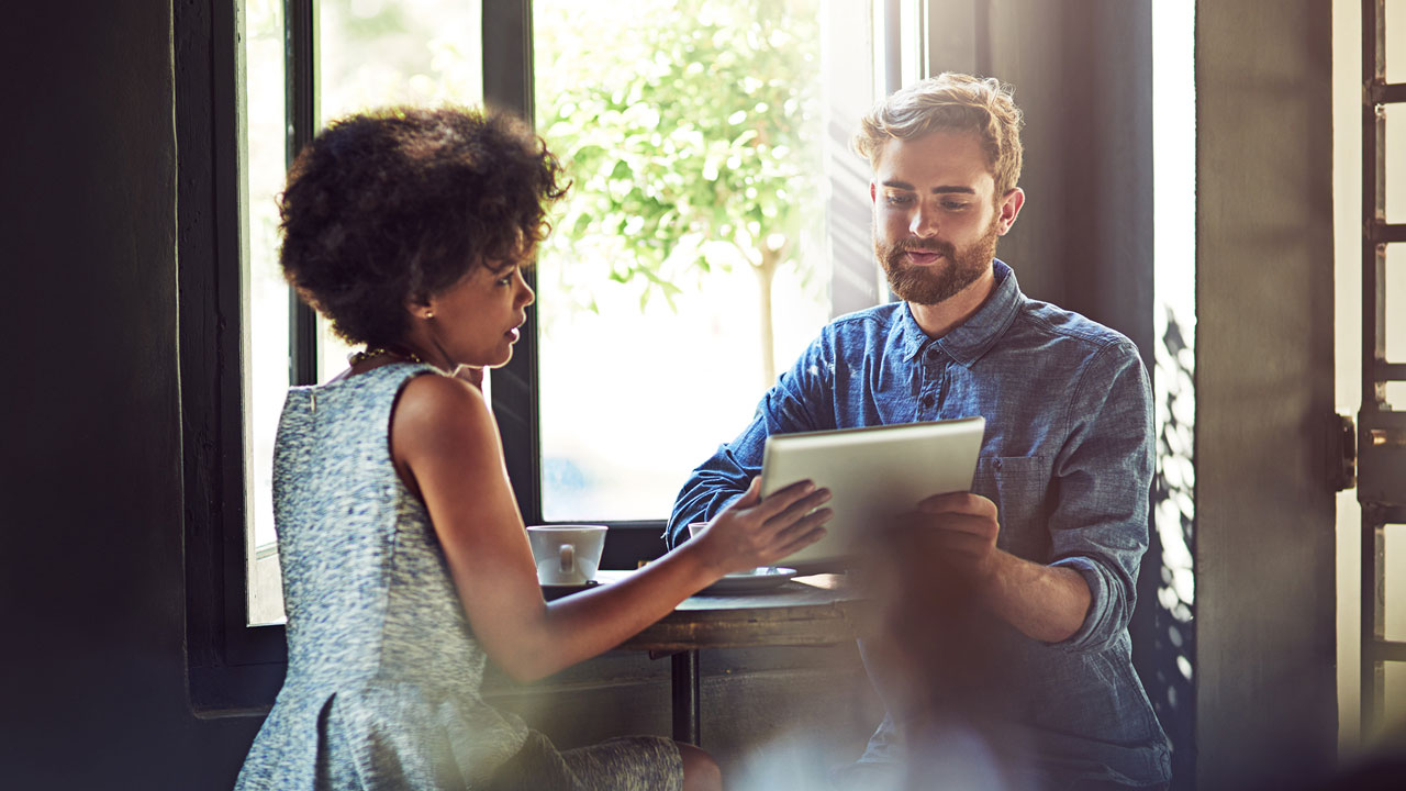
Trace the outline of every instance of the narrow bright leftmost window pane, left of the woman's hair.
<path fill-rule="evenodd" d="M 278 270 L 278 207 L 284 179 L 283 0 L 245 3 L 245 255 L 249 263 L 249 622 L 283 619 L 273 529 L 273 439 L 288 390 L 288 286 Z"/>

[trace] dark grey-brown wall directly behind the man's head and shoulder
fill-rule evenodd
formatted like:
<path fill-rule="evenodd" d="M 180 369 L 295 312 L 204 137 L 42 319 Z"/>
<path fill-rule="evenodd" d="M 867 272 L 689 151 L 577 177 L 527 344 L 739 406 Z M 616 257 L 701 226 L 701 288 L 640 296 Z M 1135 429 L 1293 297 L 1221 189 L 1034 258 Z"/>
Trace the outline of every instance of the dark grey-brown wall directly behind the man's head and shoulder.
<path fill-rule="evenodd" d="M 1025 111 L 1021 289 L 1132 338 L 1152 369 L 1150 0 L 990 3 L 991 73 Z"/>

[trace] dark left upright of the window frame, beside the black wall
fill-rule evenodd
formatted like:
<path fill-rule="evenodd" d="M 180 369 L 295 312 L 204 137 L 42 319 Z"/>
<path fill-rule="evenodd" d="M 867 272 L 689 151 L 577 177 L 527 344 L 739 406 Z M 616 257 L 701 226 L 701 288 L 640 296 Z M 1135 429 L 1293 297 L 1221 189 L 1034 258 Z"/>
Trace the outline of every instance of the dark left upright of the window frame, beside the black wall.
<path fill-rule="evenodd" d="M 187 667 L 193 711 L 214 716 L 271 705 L 287 642 L 245 626 L 243 7 L 177 4 L 173 31 Z"/>

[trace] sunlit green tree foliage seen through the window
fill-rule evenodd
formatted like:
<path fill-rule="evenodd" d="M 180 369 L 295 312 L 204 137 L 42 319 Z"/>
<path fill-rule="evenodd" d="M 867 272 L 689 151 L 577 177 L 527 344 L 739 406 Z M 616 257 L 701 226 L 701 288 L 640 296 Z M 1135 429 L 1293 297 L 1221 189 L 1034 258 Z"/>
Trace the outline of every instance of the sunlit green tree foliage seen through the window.
<path fill-rule="evenodd" d="M 571 6 L 536 4 L 538 129 L 574 180 L 550 252 L 609 262 L 641 305 L 685 270 L 799 260 L 821 218 L 818 0 Z"/>

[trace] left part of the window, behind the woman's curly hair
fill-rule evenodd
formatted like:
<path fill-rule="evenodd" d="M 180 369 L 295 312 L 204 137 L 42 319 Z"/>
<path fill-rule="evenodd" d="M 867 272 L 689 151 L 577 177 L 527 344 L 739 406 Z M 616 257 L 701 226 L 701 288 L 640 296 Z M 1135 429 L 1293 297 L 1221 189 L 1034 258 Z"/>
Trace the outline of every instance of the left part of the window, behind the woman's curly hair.
<path fill-rule="evenodd" d="M 482 101 L 479 7 L 470 0 L 319 0 L 294 4 L 304 25 L 287 25 L 284 0 L 245 1 L 246 134 L 243 169 L 249 269 L 243 327 L 249 328 L 245 376 L 252 438 L 249 624 L 283 621 L 283 591 L 273 529 L 273 443 L 290 384 L 326 381 L 346 367 L 350 350 L 311 310 L 297 303 L 278 272 L 276 196 L 302 141 L 328 121 L 385 104 Z M 315 14 L 315 15 L 314 15 Z M 311 94 L 299 97 L 308 128 L 288 101 L 284 42 L 311 66 Z M 307 72 L 305 72 L 307 73 Z M 292 110 L 292 118 L 290 118 Z M 311 121 L 308 124 L 307 121 Z M 302 328 L 299 336 L 298 329 Z M 311 352 L 298 362 L 298 349 Z M 304 352 L 304 353 L 307 353 Z M 309 365 L 311 363 L 311 365 Z"/>

